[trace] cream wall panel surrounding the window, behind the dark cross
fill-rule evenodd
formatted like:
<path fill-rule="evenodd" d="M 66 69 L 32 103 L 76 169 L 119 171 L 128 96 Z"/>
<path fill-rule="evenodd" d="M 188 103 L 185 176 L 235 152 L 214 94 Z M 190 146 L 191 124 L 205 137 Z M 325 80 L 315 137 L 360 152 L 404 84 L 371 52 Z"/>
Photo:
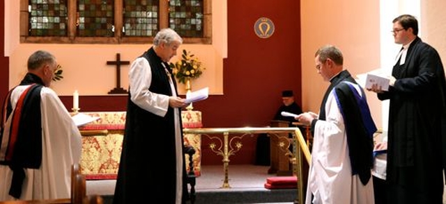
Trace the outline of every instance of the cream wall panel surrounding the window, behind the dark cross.
<path fill-rule="evenodd" d="M 223 59 L 227 57 L 227 10 L 226 0 L 213 1 L 213 44 L 183 44 L 178 49 L 192 51 L 203 61 L 206 70 L 194 80 L 192 88 L 208 86 L 210 94 L 223 94 Z M 54 82 L 52 88 L 61 96 L 71 95 L 79 90 L 80 95 L 106 95 L 116 87 L 116 66 L 107 65 L 107 61 L 116 60 L 116 53 L 121 53 L 121 60 L 130 61 L 150 48 L 151 44 L 21 44 L 19 37 L 20 1 L 5 1 L 5 53 L 10 62 L 9 87 L 17 85 L 26 73 L 26 60 L 38 49 L 47 50 L 56 56 L 63 67 L 63 80 Z M 128 69 L 121 66 L 121 87 L 128 89 Z M 180 94 L 185 93 L 183 85 L 178 87 Z"/>

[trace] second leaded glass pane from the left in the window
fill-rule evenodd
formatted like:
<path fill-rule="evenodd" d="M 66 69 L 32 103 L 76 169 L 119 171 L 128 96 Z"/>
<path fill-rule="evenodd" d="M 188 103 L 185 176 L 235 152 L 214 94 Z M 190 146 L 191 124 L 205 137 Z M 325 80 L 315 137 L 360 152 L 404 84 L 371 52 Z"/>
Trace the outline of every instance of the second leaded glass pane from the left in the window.
<path fill-rule="evenodd" d="M 114 36 L 113 0 L 77 0 L 79 15 L 77 35 L 80 37 Z"/>

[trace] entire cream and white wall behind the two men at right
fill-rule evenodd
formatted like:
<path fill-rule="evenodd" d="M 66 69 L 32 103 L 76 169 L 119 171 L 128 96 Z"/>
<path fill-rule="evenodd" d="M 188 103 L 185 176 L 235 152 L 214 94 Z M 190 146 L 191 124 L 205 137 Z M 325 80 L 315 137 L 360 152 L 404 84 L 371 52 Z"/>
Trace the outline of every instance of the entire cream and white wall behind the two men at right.
<path fill-rule="evenodd" d="M 415 15 L 420 37 L 440 53 L 446 67 L 446 1 L 300 1 L 302 18 L 302 108 L 318 112 L 328 82 L 314 68 L 314 52 L 323 44 L 339 46 L 344 66 L 351 74 L 388 67 L 399 45 L 394 44 L 392 20 L 397 15 Z M 367 8 L 367 9 L 364 9 Z M 387 107 L 367 92 L 372 116 L 378 127 L 387 126 Z"/>

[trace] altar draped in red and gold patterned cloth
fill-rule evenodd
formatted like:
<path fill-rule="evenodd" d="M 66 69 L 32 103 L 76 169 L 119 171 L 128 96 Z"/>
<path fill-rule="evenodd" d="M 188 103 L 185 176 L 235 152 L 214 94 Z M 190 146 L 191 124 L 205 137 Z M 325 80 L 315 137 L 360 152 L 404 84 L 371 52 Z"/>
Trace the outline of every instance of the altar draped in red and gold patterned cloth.
<path fill-rule="evenodd" d="M 82 112 L 97 121 L 79 128 L 82 134 L 82 156 L 80 169 L 86 179 L 116 179 L 123 144 L 125 112 Z M 201 112 L 181 112 L 183 128 L 201 128 Z M 201 135 L 185 134 L 185 145 L 193 146 L 194 173 L 201 174 Z M 186 170 L 189 171 L 189 155 L 185 155 Z"/>

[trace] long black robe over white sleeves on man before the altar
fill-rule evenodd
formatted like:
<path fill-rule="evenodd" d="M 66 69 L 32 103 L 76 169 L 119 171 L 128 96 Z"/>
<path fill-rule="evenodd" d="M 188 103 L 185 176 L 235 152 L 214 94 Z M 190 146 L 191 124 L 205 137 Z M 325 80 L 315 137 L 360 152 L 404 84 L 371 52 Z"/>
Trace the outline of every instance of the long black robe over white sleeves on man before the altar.
<path fill-rule="evenodd" d="M 143 56 L 151 65 L 153 93 L 172 96 L 164 66 L 166 62 L 153 48 Z M 176 143 L 174 109 L 169 107 L 164 117 L 148 112 L 128 97 L 123 149 L 113 203 L 175 203 Z M 180 110 L 178 110 L 180 112 Z M 181 120 L 181 117 L 180 117 Z M 180 121 L 181 123 L 181 121 Z M 181 130 L 181 132 L 183 132 Z M 182 133 L 183 134 L 183 133 Z M 183 144 L 183 137 L 181 137 Z M 185 161 L 183 158 L 183 203 L 187 198 Z"/>

